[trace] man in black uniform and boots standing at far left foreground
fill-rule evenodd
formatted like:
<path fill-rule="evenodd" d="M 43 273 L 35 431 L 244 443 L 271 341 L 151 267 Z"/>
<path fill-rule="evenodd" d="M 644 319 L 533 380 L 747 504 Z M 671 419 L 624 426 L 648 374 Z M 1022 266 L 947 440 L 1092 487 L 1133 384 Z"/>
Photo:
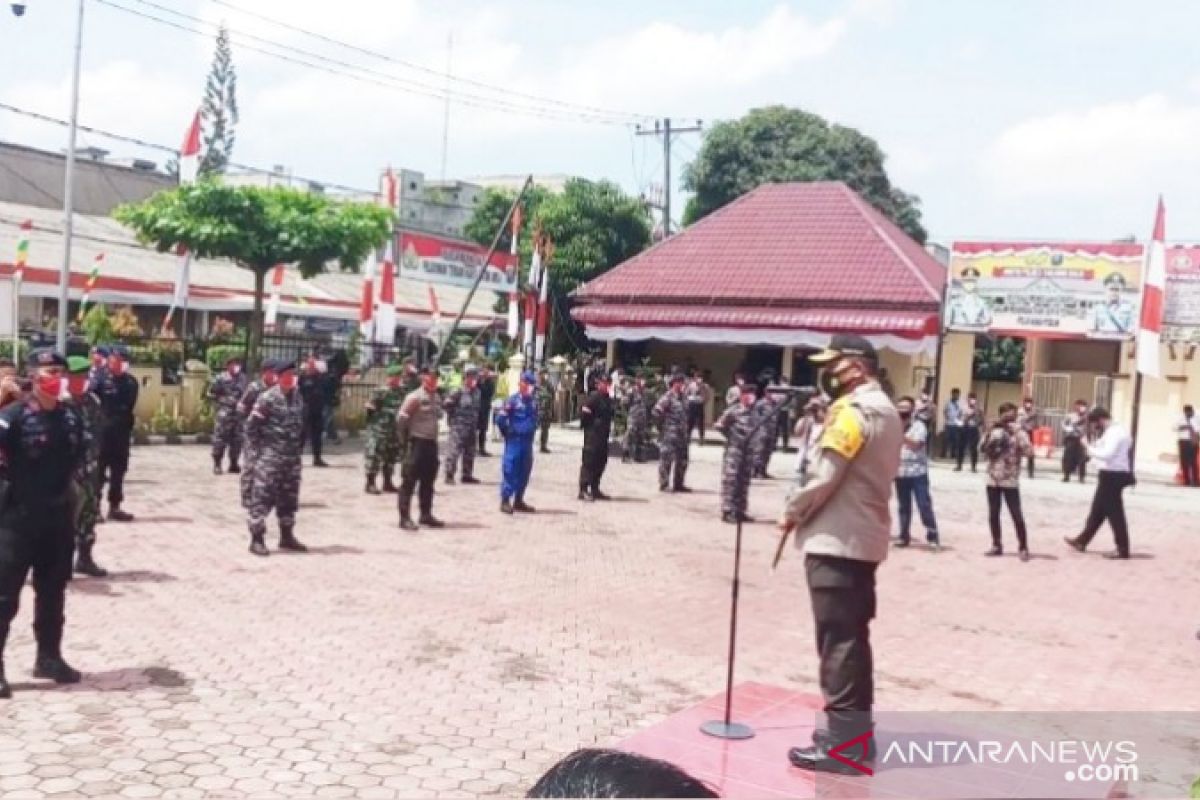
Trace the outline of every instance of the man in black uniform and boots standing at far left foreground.
<path fill-rule="evenodd" d="M 62 660 L 66 587 L 74 555 L 73 479 L 88 447 L 79 413 L 59 398 L 66 359 L 34 350 L 29 359 L 34 389 L 29 397 L 0 410 L 0 698 L 12 697 L 5 680 L 4 646 L 17 615 L 20 590 L 34 572 L 35 678 L 79 682 L 79 672 Z"/>

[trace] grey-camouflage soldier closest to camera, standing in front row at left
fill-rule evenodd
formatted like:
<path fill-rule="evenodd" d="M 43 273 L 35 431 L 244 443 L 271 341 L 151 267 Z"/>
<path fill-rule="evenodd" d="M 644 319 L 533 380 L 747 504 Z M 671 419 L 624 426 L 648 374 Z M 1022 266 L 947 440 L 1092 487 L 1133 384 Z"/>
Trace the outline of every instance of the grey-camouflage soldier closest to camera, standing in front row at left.
<path fill-rule="evenodd" d="M 294 529 L 300 505 L 300 453 L 304 399 L 296 390 L 294 363 L 277 365 L 280 381 L 254 402 L 246 420 L 246 440 L 253 449 L 250 489 L 250 552 L 266 555 L 266 517 L 280 521 L 280 549 L 302 553 Z"/>

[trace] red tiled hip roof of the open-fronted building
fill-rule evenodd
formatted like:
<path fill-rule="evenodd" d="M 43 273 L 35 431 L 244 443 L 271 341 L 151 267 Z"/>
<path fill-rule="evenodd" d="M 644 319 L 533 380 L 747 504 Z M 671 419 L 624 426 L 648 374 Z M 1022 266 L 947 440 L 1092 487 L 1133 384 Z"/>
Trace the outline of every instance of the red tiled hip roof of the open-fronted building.
<path fill-rule="evenodd" d="M 937 313 L 944 275 L 932 255 L 845 184 L 774 184 L 635 255 L 575 297 L 584 305 Z"/>

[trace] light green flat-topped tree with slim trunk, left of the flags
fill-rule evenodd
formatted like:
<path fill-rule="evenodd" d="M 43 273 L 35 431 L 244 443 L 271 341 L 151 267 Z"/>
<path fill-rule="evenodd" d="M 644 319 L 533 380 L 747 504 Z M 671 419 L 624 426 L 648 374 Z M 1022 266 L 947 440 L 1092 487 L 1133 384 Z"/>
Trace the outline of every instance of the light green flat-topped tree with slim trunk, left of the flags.
<path fill-rule="evenodd" d="M 227 258 L 254 273 L 248 355 L 258 363 L 266 273 L 295 265 L 311 278 L 330 264 L 356 271 L 391 234 L 392 215 L 368 203 L 338 203 L 284 187 L 199 181 L 122 205 L 113 216 L 158 252 L 186 247 L 196 258 Z"/>

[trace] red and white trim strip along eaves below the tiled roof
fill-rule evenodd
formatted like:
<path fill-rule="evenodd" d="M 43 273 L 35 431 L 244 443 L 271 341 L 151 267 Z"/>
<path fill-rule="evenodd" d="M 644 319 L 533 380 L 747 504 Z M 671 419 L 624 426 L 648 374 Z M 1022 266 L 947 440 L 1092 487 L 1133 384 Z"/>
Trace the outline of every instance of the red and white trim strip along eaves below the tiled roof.
<path fill-rule="evenodd" d="M 576 308 L 584 325 L 624 327 L 763 327 L 857 331 L 924 337 L 937 333 L 937 314 L 928 311 L 854 311 L 848 308 L 739 308 L 599 303 Z"/>

